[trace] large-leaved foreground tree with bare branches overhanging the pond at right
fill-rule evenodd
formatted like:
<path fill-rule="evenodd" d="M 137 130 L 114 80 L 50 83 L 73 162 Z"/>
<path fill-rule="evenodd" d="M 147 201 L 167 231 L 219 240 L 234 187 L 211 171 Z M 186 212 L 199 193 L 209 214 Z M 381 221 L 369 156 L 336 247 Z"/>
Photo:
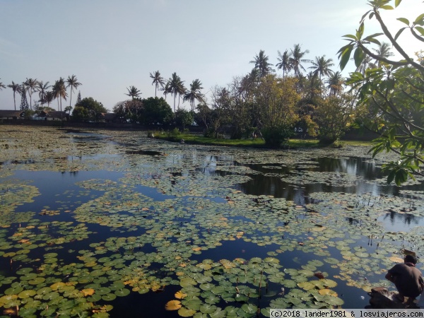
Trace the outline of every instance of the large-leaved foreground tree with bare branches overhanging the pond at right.
<path fill-rule="evenodd" d="M 414 173 L 423 175 L 420 167 L 424 165 L 424 66 L 407 54 L 399 45 L 398 38 L 409 30 L 419 42 L 424 42 L 424 14 L 420 14 L 410 22 L 407 18 L 398 18 L 406 26 L 393 35 L 387 28 L 380 12 L 392 10 L 401 4 L 394 1 L 394 7 L 389 5 L 391 0 L 370 0 L 371 9 L 360 20 L 360 26 L 354 35 L 345 35 L 348 44 L 338 51 L 340 67 L 349 61 L 351 53 L 358 67 L 366 56 L 377 61 L 377 68 L 366 69 L 365 73 L 354 72 L 347 83 L 358 90 L 360 102 L 368 107 L 370 116 L 365 117 L 362 124 L 380 137 L 372 147 L 373 155 L 382 151 L 399 154 L 399 160 L 387 163 L 383 170 L 389 172 L 387 182 L 400 185 L 406 182 Z M 365 18 L 375 18 L 382 33 L 364 37 Z M 401 59 L 391 59 L 387 54 L 373 52 L 370 47 L 375 44 L 382 46 L 377 37 L 384 35 L 390 45 L 396 49 Z M 384 55 L 384 56 L 383 56 Z"/>

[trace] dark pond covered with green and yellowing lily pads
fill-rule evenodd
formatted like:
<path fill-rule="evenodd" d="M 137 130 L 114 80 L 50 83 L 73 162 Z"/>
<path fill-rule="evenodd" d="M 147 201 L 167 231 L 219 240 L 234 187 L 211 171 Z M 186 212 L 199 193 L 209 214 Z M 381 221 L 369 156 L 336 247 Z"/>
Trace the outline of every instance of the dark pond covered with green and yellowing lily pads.
<path fill-rule="evenodd" d="M 0 126 L 0 314 L 363 308 L 423 250 L 423 179 L 364 147 L 272 151 Z M 422 264 L 419 264 L 418 267 Z"/>

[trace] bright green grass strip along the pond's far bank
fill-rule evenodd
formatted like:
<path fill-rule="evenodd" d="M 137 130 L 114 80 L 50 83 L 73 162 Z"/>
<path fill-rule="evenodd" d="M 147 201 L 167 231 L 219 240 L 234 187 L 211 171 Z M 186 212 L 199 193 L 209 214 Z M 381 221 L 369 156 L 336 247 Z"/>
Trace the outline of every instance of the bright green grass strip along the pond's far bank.
<path fill-rule="evenodd" d="M 180 142 L 184 139 L 184 143 L 196 143 L 201 145 L 209 146 L 232 146 L 232 147 L 254 147 L 254 148 L 266 148 L 265 141 L 263 139 L 215 139 L 204 137 L 199 134 L 176 134 L 172 133 L 160 133 L 154 132 L 155 138 L 164 139 L 167 141 Z M 333 145 L 326 146 L 372 146 L 370 141 L 338 141 Z M 288 148 L 319 148 L 324 147 L 319 144 L 317 139 L 290 139 L 288 141 Z"/>

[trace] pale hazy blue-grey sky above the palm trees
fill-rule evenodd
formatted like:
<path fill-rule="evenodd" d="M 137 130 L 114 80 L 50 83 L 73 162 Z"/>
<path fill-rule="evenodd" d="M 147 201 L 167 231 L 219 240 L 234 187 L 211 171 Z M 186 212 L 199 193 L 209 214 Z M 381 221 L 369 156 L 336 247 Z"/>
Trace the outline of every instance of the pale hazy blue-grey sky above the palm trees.
<path fill-rule="evenodd" d="M 154 96 L 149 73 L 157 70 L 165 79 L 177 72 L 187 88 L 199 78 L 204 93 L 225 86 L 251 71 L 260 49 L 276 64 L 278 50 L 300 44 L 307 59 L 325 54 L 338 70 L 342 36 L 355 32 L 368 8 L 366 0 L 0 0 L 0 82 L 54 84 L 74 74 L 83 98 L 112 110 L 129 86 Z M 402 24 L 394 17 L 423 12 L 422 0 L 404 0 L 384 16 L 395 33 Z M 365 34 L 375 32 L 367 20 Z M 406 51 L 420 49 L 417 42 L 405 37 Z M 13 109 L 11 88 L 0 90 L 0 109 Z"/>

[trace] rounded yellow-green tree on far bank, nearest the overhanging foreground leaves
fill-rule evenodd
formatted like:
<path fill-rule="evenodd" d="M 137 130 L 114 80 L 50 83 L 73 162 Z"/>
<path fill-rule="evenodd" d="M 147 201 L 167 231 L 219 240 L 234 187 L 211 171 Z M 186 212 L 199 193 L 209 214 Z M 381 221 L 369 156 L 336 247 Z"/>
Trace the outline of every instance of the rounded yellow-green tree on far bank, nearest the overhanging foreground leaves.
<path fill-rule="evenodd" d="M 355 96 L 349 93 L 329 95 L 318 102 L 315 120 L 320 143 L 338 141 L 354 122 Z"/>

